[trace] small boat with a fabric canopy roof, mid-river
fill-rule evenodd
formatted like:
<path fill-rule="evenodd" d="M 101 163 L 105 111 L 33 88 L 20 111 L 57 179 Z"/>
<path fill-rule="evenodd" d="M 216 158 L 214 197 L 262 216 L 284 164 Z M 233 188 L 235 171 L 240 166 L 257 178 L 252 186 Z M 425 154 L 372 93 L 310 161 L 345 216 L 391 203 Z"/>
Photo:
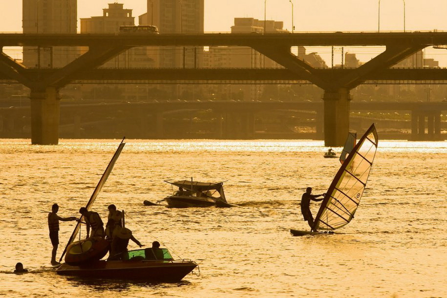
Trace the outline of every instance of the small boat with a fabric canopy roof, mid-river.
<path fill-rule="evenodd" d="M 177 187 L 178 189 L 172 195 L 165 197 L 170 208 L 188 208 L 188 207 L 233 207 L 225 199 L 224 182 L 209 183 L 191 180 L 164 182 Z"/>

